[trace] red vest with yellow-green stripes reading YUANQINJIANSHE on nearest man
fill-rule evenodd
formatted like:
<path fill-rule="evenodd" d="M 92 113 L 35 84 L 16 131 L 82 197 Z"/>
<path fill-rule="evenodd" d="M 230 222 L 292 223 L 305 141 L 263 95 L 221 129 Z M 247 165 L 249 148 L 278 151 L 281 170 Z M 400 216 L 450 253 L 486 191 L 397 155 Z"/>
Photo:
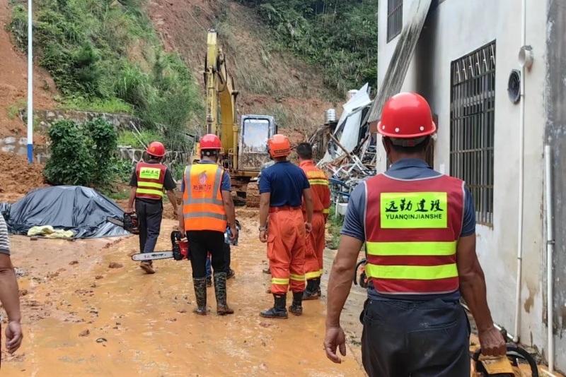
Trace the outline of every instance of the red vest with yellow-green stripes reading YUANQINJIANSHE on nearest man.
<path fill-rule="evenodd" d="M 365 184 L 365 271 L 377 292 L 456 291 L 463 181 L 445 175 L 398 180 L 379 174 Z"/>

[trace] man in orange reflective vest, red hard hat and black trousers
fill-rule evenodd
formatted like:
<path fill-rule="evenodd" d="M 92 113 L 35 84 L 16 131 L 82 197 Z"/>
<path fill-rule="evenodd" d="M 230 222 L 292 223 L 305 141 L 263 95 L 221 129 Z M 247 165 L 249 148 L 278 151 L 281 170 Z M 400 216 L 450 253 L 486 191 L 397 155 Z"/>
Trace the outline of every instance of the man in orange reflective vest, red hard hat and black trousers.
<path fill-rule="evenodd" d="M 236 214 L 231 196 L 230 176 L 219 164 L 220 139 L 207 134 L 200 139 L 200 161 L 185 168 L 181 191 L 183 211 L 179 214 L 179 230 L 189 241 L 192 282 L 197 308 L 207 314 L 207 255 L 214 269 L 216 313 L 233 314 L 226 303 L 226 258 L 224 232 L 230 225 L 230 238 L 238 237 Z"/>

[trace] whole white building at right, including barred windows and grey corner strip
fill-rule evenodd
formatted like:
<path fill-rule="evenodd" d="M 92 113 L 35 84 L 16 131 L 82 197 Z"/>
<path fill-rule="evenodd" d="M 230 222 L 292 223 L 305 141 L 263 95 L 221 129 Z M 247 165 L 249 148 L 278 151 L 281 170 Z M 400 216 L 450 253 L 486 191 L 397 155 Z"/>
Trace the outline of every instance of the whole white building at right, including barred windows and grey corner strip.
<path fill-rule="evenodd" d="M 379 104 L 396 92 L 415 91 L 429 101 L 438 123 L 434 169 L 464 179 L 475 197 L 477 250 L 494 321 L 546 361 L 553 347 L 555 369 L 566 371 L 566 0 L 382 0 L 378 17 L 379 92 L 369 121 L 379 119 Z M 419 17 L 426 18 L 422 32 Z M 519 64 L 523 45 L 532 47 L 530 67 L 529 59 Z M 383 172 L 379 136 L 377 145 Z M 553 161 L 552 342 L 545 145 Z"/>

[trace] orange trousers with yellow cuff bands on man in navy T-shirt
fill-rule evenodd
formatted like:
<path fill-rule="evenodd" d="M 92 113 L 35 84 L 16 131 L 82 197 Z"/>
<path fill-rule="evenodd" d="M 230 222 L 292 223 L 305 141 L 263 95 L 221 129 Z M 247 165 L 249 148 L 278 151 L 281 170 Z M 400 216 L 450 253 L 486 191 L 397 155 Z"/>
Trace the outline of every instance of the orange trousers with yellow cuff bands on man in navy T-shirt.
<path fill-rule="evenodd" d="M 306 229 L 301 208 L 270 208 L 267 258 L 272 294 L 304 291 L 305 249 Z"/>

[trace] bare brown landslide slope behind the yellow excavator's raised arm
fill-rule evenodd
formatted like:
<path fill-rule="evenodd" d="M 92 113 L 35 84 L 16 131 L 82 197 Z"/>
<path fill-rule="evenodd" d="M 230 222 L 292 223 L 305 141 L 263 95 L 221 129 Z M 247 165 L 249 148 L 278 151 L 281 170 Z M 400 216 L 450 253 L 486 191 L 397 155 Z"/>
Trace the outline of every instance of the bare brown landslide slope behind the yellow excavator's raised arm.
<path fill-rule="evenodd" d="M 250 8 L 228 0 L 152 0 L 149 14 L 163 44 L 183 55 L 201 87 L 207 30 L 215 28 L 240 91 L 240 114 L 273 115 L 295 141 L 323 124 L 325 109 L 342 102 L 323 84 L 320 66 L 277 50 Z"/>

